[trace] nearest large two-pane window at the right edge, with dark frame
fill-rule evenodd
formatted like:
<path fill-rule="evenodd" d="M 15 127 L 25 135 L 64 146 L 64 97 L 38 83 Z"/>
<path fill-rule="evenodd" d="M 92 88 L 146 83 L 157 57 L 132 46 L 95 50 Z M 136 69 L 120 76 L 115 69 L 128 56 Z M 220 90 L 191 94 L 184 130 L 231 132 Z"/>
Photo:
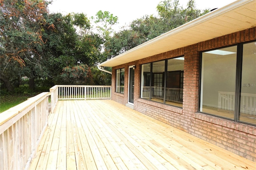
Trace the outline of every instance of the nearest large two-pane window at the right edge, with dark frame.
<path fill-rule="evenodd" d="M 256 42 L 202 53 L 200 112 L 256 124 Z"/>

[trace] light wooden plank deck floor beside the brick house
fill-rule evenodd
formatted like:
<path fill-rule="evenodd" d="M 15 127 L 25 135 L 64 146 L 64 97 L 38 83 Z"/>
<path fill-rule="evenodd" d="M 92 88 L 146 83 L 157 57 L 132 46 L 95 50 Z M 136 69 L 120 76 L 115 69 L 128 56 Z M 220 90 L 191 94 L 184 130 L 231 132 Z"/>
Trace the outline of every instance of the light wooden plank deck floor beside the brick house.
<path fill-rule="evenodd" d="M 255 169 L 228 152 L 111 100 L 58 101 L 30 169 Z"/>

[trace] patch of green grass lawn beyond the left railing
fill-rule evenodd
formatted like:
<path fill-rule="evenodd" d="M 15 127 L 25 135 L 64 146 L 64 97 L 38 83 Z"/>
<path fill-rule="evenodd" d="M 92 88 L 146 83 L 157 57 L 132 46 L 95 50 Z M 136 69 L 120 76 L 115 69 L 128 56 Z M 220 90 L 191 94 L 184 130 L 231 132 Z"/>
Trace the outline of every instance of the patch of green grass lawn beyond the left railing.
<path fill-rule="evenodd" d="M 26 101 L 35 95 L 6 95 L 0 96 L 0 113 Z"/>

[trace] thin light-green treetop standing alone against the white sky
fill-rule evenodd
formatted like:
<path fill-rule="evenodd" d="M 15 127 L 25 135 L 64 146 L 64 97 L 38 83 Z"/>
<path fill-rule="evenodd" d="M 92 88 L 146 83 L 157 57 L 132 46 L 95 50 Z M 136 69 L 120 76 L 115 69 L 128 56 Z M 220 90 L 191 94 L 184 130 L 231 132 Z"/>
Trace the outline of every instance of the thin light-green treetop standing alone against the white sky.
<path fill-rule="evenodd" d="M 98 30 L 102 32 L 103 38 L 109 40 L 110 34 L 113 32 L 111 27 L 118 23 L 118 17 L 108 11 L 100 10 L 97 12 L 96 18 L 92 17 L 92 19 L 95 20 Z"/>

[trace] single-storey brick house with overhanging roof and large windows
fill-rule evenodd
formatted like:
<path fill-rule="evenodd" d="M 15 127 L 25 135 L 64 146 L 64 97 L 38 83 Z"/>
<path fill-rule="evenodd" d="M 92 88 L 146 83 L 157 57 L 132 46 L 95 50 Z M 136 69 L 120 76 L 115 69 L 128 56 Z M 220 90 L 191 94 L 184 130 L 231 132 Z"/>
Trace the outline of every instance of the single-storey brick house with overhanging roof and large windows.
<path fill-rule="evenodd" d="M 238 0 L 98 65 L 112 100 L 256 162 L 256 1 Z"/>

